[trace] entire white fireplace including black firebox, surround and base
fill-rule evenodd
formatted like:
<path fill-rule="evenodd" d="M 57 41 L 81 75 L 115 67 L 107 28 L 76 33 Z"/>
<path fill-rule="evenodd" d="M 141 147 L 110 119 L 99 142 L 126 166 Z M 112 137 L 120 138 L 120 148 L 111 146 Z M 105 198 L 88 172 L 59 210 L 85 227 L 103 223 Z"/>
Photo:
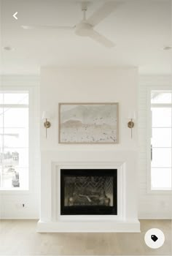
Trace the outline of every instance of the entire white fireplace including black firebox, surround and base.
<path fill-rule="evenodd" d="M 66 152 L 64 155 L 60 155 L 59 152 L 57 154 L 56 151 L 50 151 L 48 154 L 47 151 L 44 152 L 41 219 L 37 231 L 41 233 L 140 232 L 137 217 L 136 165 L 133 165 L 136 159 L 135 152 L 109 153 L 109 159 L 113 160 L 109 162 L 93 162 L 93 160 L 89 162 L 91 157 L 94 159 L 97 157 L 93 152 L 87 152 L 85 154 L 87 161 L 83 162 L 80 160 L 82 154 L 82 151 L 77 151 L 77 154 L 70 151 L 68 157 L 72 161 L 63 162 Z M 98 159 L 103 159 L 103 156 L 104 152 L 98 153 Z M 74 189 L 77 184 L 82 187 L 79 200 L 78 193 L 76 191 L 75 194 L 76 189 Z M 88 184 L 93 187 L 92 191 Z M 85 187 L 88 188 L 84 189 Z M 100 196 L 100 190 L 103 190 L 103 197 Z"/>

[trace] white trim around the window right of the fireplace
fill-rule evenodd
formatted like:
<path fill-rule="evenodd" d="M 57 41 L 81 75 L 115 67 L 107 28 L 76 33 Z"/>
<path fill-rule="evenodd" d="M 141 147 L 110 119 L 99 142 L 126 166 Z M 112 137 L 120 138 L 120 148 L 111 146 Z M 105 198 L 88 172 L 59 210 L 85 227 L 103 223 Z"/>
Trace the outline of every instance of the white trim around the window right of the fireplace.
<path fill-rule="evenodd" d="M 172 189 L 157 190 L 151 189 L 151 133 L 152 133 L 152 113 L 151 113 L 151 91 L 172 91 L 172 86 L 149 86 L 146 91 L 146 192 L 152 195 L 172 195 Z M 172 176 L 171 176 L 172 177 Z"/>

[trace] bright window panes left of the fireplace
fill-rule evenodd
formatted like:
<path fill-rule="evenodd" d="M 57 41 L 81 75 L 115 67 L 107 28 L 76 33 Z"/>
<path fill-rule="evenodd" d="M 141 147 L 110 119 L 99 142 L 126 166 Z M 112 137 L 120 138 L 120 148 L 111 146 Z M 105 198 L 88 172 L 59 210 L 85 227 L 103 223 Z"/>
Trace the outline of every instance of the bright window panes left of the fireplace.
<path fill-rule="evenodd" d="M 0 91 L 0 189 L 28 189 L 28 91 Z"/>

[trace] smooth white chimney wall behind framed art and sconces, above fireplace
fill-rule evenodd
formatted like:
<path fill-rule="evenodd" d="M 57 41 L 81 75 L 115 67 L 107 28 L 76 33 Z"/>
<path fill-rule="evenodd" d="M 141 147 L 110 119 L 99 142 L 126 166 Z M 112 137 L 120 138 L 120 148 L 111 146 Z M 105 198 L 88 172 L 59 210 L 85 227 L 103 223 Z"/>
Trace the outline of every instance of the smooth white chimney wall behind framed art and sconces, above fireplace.
<path fill-rule="evenodd" d="M 136 68 L 42 68 L 41 111 L 52 115 L 52 127 L 42 127 L 42 150 L 133 150 L 137 148 L 137 125 L 130 138 L 127 127 L 128 111 L 137 110 L 138 71 Z M 119 102 L 120 143 L 116 145 L 68 146 L 58 144 L 58 103 L 59 102 Z"/>

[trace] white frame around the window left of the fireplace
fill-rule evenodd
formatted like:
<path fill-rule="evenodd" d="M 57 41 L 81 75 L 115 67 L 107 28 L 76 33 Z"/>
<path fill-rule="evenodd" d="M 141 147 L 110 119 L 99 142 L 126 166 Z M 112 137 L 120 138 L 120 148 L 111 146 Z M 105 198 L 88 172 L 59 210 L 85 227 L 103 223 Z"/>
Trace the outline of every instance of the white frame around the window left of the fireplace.
<path fill-rule="evenodd" d="M 34 129 L 31 126 L 34 121 L 34 86 L 1 86 L 1 92 L 19 92 L 25 93 L 28 92 L 28 188 L 2 188 L 0 187 L 0 195 L 29 195 L 33 190 L 33 173 L 31 172 L 33 167 L 33 159 L 31 157 L 31 151 L 33 148 L 32 135 L 34 135 Z"/>

